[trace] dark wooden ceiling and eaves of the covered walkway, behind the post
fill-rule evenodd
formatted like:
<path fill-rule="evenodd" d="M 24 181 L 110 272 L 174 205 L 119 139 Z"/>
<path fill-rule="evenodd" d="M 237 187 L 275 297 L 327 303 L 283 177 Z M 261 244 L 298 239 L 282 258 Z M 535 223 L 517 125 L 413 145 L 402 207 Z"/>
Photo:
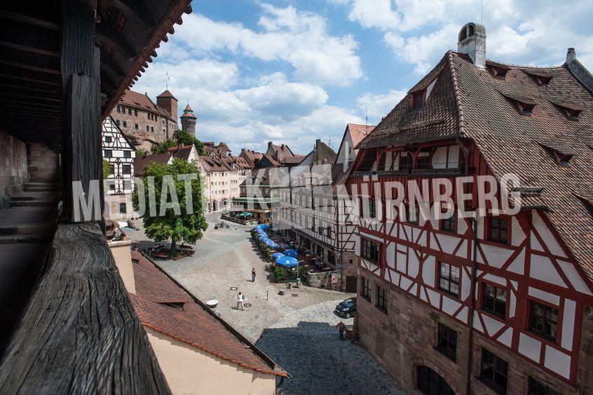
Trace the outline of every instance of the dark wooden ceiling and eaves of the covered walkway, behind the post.
<path fill-rule="evenodd" d="M 156 48 L 190 13 L 190 0 L 97 0 L 102 112 L 156 57 Z M 59 150 L 62 135 L 62 2 L 0 4 L 0 129 Z M 67 48 L 64 48 L 67 50 Z"/>

